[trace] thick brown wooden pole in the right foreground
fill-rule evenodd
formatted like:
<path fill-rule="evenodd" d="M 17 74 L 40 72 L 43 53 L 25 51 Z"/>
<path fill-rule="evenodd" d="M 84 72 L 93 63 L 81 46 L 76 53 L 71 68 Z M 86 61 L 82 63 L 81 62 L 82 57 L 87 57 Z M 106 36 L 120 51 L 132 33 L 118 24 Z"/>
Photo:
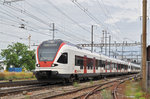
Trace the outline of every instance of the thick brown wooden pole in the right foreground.
<path fill-rule="evenodd" d="M 143 34 L 142 34 L 142 90 L 146 91 L 146 29 L 147 29 L 147 0 L 143 0 Z"/>

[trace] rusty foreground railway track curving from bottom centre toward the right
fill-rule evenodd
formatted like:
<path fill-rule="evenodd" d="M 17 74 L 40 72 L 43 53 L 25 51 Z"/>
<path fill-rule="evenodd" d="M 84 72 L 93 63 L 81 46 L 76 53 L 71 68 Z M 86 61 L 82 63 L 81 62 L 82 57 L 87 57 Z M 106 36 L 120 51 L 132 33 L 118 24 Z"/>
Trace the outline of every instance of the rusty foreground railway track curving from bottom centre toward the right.
<path fill-rule="evenodd" d="M 81 89 L 77 89 L 77 90 L 73 90 L 73 91 L 69 91 L 66 93 L 61 93 L 61 94 L 57 94 L 57 95 L 53 95 L 53 96 L 43 95 L 43 97 L 40 97 L 40 99 L 63 99 L 63 98 L 66 98 L 66 99 L 88 99 L 91 95 L 94 95 L 97 92 L 100 92 L 104 89 L 113 87 L 114 85 L 117 85 L 118 82 L 126 81 L 133 77 L 135 77 L 135 75 L 120 77 L 120 78 L 117 78 L 117 79 L 114 79 L 111 81 L 103 82 L 98 85 L 89 86 L 89 87 L 85 87 L 85 88 L 81 88 Z"/>

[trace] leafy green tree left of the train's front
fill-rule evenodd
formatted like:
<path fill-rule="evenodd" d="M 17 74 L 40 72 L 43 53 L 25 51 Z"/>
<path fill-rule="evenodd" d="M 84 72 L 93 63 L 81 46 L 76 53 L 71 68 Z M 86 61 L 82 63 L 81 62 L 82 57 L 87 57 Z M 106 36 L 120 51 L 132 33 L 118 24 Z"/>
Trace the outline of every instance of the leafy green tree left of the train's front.
<path fill-rule="evenodd" d="M 1 56 L 5 59 L 5 64 L 8 68 L 22 67 L 27 70 L 35 69 L 35 54 L 34 51 L 29 51 L 28 46 L 22 43 L 14 43 L 8 45 L 7 49 L 2 50 Z"/>

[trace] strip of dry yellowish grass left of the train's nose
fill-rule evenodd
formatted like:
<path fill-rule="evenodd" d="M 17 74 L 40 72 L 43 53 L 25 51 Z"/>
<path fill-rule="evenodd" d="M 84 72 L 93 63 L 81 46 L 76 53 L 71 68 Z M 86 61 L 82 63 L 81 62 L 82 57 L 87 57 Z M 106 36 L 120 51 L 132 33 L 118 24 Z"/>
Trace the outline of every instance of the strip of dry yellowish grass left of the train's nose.
<path fill-rule="evenodd" d="M 1 72 L 0 80 L 17 80 L 35 78 L 31 72 Z"/>

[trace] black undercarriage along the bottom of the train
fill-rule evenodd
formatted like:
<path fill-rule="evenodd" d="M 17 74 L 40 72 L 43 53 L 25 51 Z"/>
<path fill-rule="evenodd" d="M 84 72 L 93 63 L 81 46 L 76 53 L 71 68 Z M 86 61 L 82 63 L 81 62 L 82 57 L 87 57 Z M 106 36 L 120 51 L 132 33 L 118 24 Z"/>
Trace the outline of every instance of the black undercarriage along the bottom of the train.
<path fill-rule="evenodd" d="M 38 71 L 35 76 L 40 82 L 73 82 L 86 79 L 102 79 L 121 75 L 136 74 L 138 72 L 110 72 L 110 73 L 87 73 L 87 74 L 59 74 L 57 71 Z"/>

